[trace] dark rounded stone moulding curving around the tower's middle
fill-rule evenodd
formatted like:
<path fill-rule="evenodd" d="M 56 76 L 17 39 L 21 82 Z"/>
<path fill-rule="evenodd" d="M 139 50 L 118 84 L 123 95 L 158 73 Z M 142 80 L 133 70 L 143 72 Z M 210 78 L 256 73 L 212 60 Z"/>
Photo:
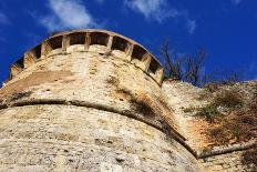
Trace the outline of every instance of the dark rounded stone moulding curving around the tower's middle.
<path fill-rule="evenodd" d="M 103 110 L 103 111 L 107 111 L 107 112 L 119 113 L 121 115 L 125 115 L 125 117 L 132 118 L 134 120 L 144 122 L 144 123 L 162 131 L 163 133 L 165 133 L 167 135 L 167 138 L 176 140 L 184 148 L 186 148 L 194 156 L 196 156 L 195 151 L 192 150 L 191 146 L 185 142 L 185 138 L 183 135 L 181 135 L 175 129 L 173 129 L 173 127 L 171 127 L 171 124 L 168 122 L 166 122 L 166 120 L 161 115 L 156 117 L 153 120 L 153 119 L 147 119 L 146 117 L 144 117 L 143 114 L 140 114 L 137 112 L 122 111 L 122 110 L 115 109 L 115 108 L 110 107 L 110 105 L 103 105 L 103 104 L 99 104 L 99 103 L 76 101 L 76 100 L 68 101 L 64 99 L 38 99 L 38 100 L 33 99 L 33 100 L 20 100 L 20 101 L 10 102 L 10 103 L 2 102 L 2 103 L 0 103 L 0 110 L 13 108 L 13 107 L 39 105 L 39 104 L 41 104 L 41 105 L 43 105 L 43 104 L 51 104 L 51 105 L 52 104 L 61 104 L 61 105 L 86 107 L 86 108 L 93 108 L 93 109 Z"/>

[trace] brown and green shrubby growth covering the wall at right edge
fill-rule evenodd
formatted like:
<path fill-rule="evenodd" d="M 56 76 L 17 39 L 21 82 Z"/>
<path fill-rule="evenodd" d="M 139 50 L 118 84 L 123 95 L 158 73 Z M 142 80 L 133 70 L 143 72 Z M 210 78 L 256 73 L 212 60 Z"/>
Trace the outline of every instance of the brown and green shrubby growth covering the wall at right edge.
<path fill-rule="evenodd" d="M 206 134 L 215 145 L 244 142 L 256 135 L 257 97 L 246 102 L 238 90 L 223 89 L 216 92 L 208 104 L 184 109 L 184 112 L 194 111 L 209 122 Z"/>

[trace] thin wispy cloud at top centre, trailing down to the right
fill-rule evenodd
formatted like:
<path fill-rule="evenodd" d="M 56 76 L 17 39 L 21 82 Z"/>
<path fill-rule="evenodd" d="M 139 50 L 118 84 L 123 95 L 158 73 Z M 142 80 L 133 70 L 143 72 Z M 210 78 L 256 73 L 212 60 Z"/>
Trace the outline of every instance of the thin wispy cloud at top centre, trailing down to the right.
<path fill-rule="evenodd" d="M 144 16 L 146 20 L 154 20 L 162 23 L 168 18 L 179 18 L 185 21 L 189 34 L 195 32 L 196 21 L 188 17 L 187 10 L 171 8 L 167 0 L 124 0 L 125 7 Z"/>

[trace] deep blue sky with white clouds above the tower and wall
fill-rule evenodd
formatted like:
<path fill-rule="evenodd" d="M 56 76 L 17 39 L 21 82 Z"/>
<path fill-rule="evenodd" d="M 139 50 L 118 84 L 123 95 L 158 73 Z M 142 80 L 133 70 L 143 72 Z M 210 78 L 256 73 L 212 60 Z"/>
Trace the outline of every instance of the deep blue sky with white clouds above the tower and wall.
<path fill-rule="evenodd" d="M 204 48 L 205 72 L 244 70 L 257 79 L 256 9 L 256 0 L 1 0 L 0 82 L 52 31 L 82 28 L 119 32 L 156 57 L 165 39 L 177 53 Z"/>

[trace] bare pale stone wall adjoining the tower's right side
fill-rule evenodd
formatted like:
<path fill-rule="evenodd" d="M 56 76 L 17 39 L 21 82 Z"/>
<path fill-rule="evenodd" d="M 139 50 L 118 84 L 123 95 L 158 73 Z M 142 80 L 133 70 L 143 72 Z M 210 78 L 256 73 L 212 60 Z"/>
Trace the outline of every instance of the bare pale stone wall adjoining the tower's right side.
<path fill-rule="evenodd" d="M 196 152 L 195 154 L 203 165 L 203 171 L 256 171 L 254 164 L 244 165 L 241 162 L 241 154 L 257 146 L 256 139 L 253 138 L 253 141 L 241 144 L 214 148 L 212 140 L 205 134 L 209 123 L 192 112 L 184 111 L 192 107 L 202 107 L 208 103 L 206 99 L 203 99 L 203 95 L 206 97 L 204 89 L 173 80 L 164 81 L 162 89 L 167 97 L 168 105 L 174 110 L 174 117 L 178 121 L 186 142 Z M 208 151 L 206 151 L 206 148 L 208 148 Z M 257 156 L 257 154 L 254 155 Z"/>

